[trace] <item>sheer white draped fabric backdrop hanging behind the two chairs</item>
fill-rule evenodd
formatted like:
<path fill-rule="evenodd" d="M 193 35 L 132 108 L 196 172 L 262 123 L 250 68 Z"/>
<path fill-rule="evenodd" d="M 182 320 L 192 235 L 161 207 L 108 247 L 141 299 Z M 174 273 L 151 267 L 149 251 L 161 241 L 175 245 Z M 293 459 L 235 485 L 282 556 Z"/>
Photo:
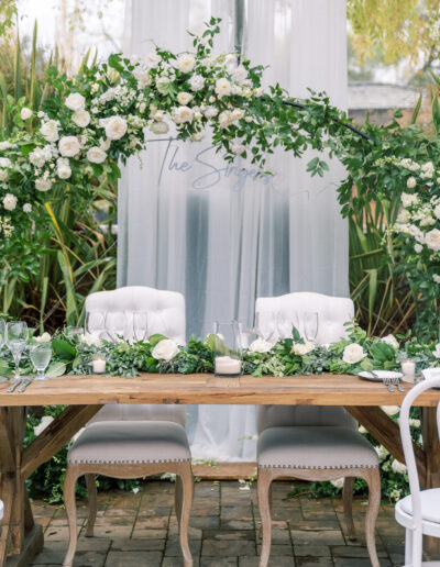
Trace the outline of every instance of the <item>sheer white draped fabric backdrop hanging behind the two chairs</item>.
<path fill-rule="evenodd" d="M 222 18 L 217 51 L 234 51 L 233 0 L 132 0 L 125 21 L 127 55 L 154 44 L 191 49 L 186 30 L 200 32 Z M 346 108 L 344 0 L 248 0 L 242 51 L 270 66 L 265 84 L 278 81 L 293 97 L 326 90 Z M 256 178 L 243 160 L 216 155 L 209 135 L 182 143 L 148 135 L 142 164 L 131 158 L 119 192 L 118 285 L 180 291 L 187 336 L 204 337 L 213 321 L 250 325 L 255 299 L 290 291 L 348 296 L 348 229 L 337 202 L 344 171 L 330 163 L 310 178 L 308 153 L 277 153 L 273 177 Z M 254 460 L 254 407 L 188 408 L 193 455 Z"/>

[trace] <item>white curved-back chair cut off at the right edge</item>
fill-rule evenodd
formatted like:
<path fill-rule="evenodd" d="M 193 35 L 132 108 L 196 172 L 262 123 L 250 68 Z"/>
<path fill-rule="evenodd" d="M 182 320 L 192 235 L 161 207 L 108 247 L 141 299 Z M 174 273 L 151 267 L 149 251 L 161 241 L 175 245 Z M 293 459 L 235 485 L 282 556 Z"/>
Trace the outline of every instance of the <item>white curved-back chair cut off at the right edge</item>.
<path fill-rule="evenodd" d="M 440 566 L 440 562 L 422 562 L 424 535 L 440 537 L 440 488 L 420 490 L 409 429 L 409 411 L 414 401 L 433 387 L 440 387 L 440 377 L 429 378 L 409 390 L 400 409 L 400 436 L 411 492 L 399 500 L 395 509 L 396 521 L 406 529 L 404 567 Z M 440 431 L 440 404 L 437 407 L 437 425 Z"/>

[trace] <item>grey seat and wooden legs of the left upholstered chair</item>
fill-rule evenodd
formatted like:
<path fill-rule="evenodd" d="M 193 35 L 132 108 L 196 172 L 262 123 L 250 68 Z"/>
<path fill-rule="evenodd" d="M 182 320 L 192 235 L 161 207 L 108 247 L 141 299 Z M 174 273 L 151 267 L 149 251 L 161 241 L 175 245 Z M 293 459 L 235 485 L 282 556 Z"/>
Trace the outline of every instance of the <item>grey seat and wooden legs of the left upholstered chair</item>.
<path fill-rule="evenodd" d="M 191 455 L 184 427 L 172 421 L 103 421 L 88 425 L 67 456 L 64 502 L 69 526 L 69 544 L 63 565 L 72 567 L 77 545 L 75 487 L 77 479 L 95 475 L 140 478 L 162 472 L 176 474 L 176 516 L 185 567 L 193 566 L 188 545 L 188 523 L 193 503 Z M 95 481 L 94 481 L 95 486 Z M 95 499 L 90 507 L 96 511 Z M 95 512 L 96 513 L 96 512 Z M 88 520 L 92 535 L 95 515 Z M 91 532 L 91 533 L 90 533 Z"/>

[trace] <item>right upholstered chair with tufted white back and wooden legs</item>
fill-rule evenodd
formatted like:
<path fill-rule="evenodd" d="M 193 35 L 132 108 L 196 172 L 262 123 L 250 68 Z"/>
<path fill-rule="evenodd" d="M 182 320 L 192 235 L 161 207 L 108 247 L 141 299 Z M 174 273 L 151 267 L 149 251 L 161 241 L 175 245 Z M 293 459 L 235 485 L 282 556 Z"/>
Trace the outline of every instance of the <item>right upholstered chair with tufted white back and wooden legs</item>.
<path fill-rule="evenodd" d="M 275 298 L 258 298 L 255 313 L 264 333 L 277 336 L 279 312 L 318 313 L 317 343 L 326 344 L 346 336 L 344 323 L 354 316 L 351 299 L 321 293 L 297 292 Z M 372 445 L 358 433 L 358 422 L 341 407 L 260 405 L 257 408 L 258 499 L 262 509 L 263 548 L 261 566 L 267 565 L 271 548 L 271 482 L 276 477 L 332 480 L 344 477 L 343 505 L 350 540 L 355 538 L 352 497 L 356 476 L 370 487 L 366 540 L 371 560 L 378 565 L 374 543 L 381 481 L 378 460 Z M 305 446 L 308 446 L 306 454 Z M 317 470 L 322 469 L 322 470 Z M 267 503 L 267 507 L 265 503 Z"/>

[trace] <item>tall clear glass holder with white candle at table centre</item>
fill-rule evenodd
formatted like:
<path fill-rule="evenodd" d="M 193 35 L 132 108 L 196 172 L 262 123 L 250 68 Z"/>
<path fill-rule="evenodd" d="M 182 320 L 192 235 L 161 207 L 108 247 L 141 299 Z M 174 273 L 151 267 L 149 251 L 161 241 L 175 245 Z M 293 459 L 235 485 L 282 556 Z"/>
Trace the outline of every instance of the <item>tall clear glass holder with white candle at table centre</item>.
<path fill-rule="evenodd" d="M 238 321 L 213 325 L 215 375 L 238 378 L 242 374 L 242 326 Z"/>

